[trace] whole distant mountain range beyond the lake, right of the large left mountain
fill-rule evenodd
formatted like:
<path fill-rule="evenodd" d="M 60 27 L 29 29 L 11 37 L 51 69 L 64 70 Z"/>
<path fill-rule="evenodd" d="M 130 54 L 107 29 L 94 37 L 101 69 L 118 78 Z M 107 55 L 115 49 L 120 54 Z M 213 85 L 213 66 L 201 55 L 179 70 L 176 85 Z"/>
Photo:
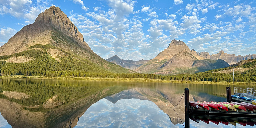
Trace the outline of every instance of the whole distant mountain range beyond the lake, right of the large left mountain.
<path fill-rule="evenodd" d="M 117 55 L 106 60 L 140 73 L 180 74 L 224 68 L 253 58 L 256 58 L 256 54 L 243 57 L 220 51 L 218 54 L 209 55 L 208 52 L 190 50 L 183 41 L 172 40 L 166 49 L 151 60 L 123 60 Z"/>

